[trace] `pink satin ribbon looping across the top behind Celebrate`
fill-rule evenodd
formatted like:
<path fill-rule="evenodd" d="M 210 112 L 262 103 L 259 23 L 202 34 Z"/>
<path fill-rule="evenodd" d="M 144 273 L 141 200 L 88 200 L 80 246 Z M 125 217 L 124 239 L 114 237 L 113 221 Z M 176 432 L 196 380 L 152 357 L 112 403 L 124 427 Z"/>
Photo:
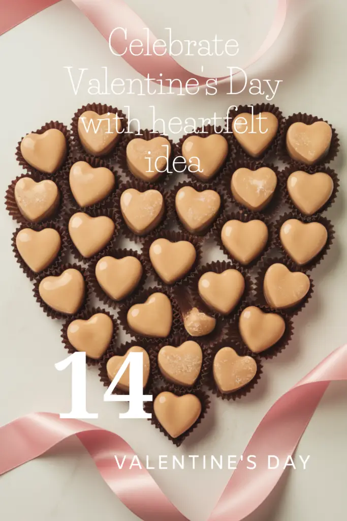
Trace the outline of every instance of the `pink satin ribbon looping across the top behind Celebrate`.
<path fill-rule="evenodd" d="M 56 4 L 59 0 L 0 0 L 0 34 L 8 31 L 18 23 L 38 13 L 49 5 Z M 116 27 L 127 29 L 127 42 L 134 39 L 144 40 L 146 28 L 145 22 L 124 2 L 124 0 L 72 0 L 81 9 L 98 29 L 98 31 L 109 40 L 112 30 Z M 242 67 L 244 70 L 258 61 L 274 44 L 284 26 L 287 14 L 287 0 L 278 0 L 276 13 L 267 36 L 254 56 Z M 150 46 L 157 40 L 157 37 L 149 32 Z M 111 39 L 113 49 L 118 53 L 124 51 L 124 34 L 115 32 Z M 136 69 L 140 74 L 155 81 L 166 81 L 168 79 L 179 79 L 182 83 L 190 78 L 196 78 L 199 84 L 204 84 L 209 77 L 199 76 L 177 63 L 177 61 L 165 54 L 164 56 L 133 56 L 127 51 L 123 58 Z M 160 73 L 162 76 L 159 76 Z M 227 80 L 229 76 L 217 78 L 218 82 Z"/>

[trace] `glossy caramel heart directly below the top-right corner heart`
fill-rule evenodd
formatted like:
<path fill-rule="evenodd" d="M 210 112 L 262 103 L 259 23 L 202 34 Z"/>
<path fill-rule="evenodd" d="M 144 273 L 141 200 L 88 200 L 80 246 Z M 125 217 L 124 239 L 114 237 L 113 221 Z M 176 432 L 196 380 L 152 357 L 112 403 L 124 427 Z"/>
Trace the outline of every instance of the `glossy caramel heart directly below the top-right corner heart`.
<path fill-rule="evenodd" d="M 313 215 L 329 200 L 334 188 L 331 177 L 325 172 L 293 172 L 287 179 L 290 199 L 300 212 Z"/>

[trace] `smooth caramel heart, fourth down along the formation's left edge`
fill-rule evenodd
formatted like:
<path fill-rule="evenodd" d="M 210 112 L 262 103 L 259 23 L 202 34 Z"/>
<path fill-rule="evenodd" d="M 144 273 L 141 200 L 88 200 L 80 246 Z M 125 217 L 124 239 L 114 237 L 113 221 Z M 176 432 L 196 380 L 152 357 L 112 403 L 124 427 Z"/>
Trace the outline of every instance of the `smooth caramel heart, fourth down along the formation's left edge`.
<path fill-rule="evenodd" d="M 83 303 L 85 281 L 80 271 L 69 268 L 57 277 L 52 275 L 42 279 L 38 292 L 42 300 L 55 311 L 73 315 Z"/>

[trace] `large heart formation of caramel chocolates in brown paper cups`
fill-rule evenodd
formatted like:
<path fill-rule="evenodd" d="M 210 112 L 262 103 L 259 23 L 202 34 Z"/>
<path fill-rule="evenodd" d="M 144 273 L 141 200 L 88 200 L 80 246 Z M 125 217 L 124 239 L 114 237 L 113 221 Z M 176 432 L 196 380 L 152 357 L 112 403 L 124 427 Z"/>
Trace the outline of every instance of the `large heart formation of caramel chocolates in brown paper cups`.
<path fill-rule="evenodd" d="M 100 106 L 96 112 L 95 107 L 78 113 L 74 139 L 86 155 L 70 152 L 62 181 L 54 173 L 66 161 L 69 137 L 48 128 L 22 139 L 21 161 L 32 175 L 21 176 L 7 193 L 11 215 L 24 221 L 14 249 L 24 271 L 36 279 L 37 301 L 48 315 L 67 319 L 63 342 L 70 352 L 85 351 L 88 364 L 100 366 L 101 381 L 109 384 L 129 353 L 142 353 L 143 385 L 155 394 L 153 423 L 178 444 L 207 411 L 204 384 L 222 398 L 247 394 L 261 375 L 261 357 L 276 355 L 291 338 L 292 316 L 312 295 L 307 272 L 332 238 L 320 210 L 332 201 L 337 178 L 322 164 L 309 168 L 324 162 L 332 130 L 324 121 L 294 121 L 286 147 L 301 166 L 281 173 L 245 160 L 245 154 L 249 159 L 266 154 L 283 121 L 275 109 L 263 111 L 267 132 L 243 132 L 253 124 L 252 115 L 243 112 L 232 125 L 240 156 L 230 153 L 233 144 L 226 134 L 193 133 L 181 140 L 183 159 L 199 182 L 181 183 L 170 194 L 146 183 L 160 179 L 175 145 L 158 135 L 140 136 L 129 139 L 125 150 L 116 111 Z M 133 179 L 123 188 L 114 176 L 117 162 L 108 159 L 122 146 Z M 95 162 L 95 157 L 104 159 Z M 67 210 L 64 192 L 72 201 L 68 220 L 61 213 Z M 281 201 L 295 211 L 279 217 Z M 187 233 L 156 231 L 166 215 Z M 144 238 L 146 254 L 114 250 L 121 220 L 120 232 Z M 200 265 L 202 239 L 211 227 L 232 262 Z M 62 229 L 87 271 L 60 264 L 66 248 Z M 277 246 L 273 257 L 267 255 L 272 246 Z M 257 271 L 252 282 L 249 266 Z M 161 285 L 139 293 L 149 269 Z M 91 285 L 104 304 L 120 306 L 120 325 L 136 341 L 115 346 L 118 325 L 112 313 L 86 305 Z M 176 288 L 185 290 L 185 302 Z M 129 375 L 127 368 L 116 392 L 129 391 Z"/>

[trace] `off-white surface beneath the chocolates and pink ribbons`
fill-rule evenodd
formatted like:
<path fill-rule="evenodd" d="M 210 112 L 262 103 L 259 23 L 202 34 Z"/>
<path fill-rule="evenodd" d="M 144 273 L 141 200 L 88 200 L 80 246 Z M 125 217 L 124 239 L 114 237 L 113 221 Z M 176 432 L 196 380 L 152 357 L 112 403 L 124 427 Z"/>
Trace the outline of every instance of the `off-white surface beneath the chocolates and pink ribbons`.
<path fill-rule="evenodd" d="M 237 60 L 184 58 L 191 70 L 224 75 L 226 66 L 241 65 L 259 46 L 274 14 L 275 0 L 131 0 L 136 12 L 158 35 L 172 27 L 176 38 L 235 38 Z M 1 15 L 0 15 L 1 16 Z M 339 0 L 293 0 L 278 44 L 249 76 L 282 79 L 275 98 L 285 115 L 307 111 L 327 118 L 339 132 L 341 153 L 334 166 L 341 180 L 340 195 L 329 210 L 337 238 L 325 262 L 314 270 L 316 289 L 307 309 L 295 318 L 291 345 L 265 364 L 264 376 L 246 399 L 222 402 L 212 408 L 201 426 L 180 449 L 146 420 L 119 420 L 124 404 L 104 404 L 95 370 L 88 370 L 88 408 L 98 411 L 97 424 L 117 431 L 140 456 L 149 454 L 241 454 L 259 421 L 275 400 L 328 353 L 347 341 L 347 241 L 344 213 L 347 181 L 345 49 L 347 5 Z M 241 59 L 242 58 L 242 59 Z M 87 67 L 101 78 L 102 66 L 112 77 L 137 77 L 122 58 L 114 57 L 106 41 L 69 0 L 48 8 L 0 37 L 0 193 L 21 173 L 15 148 L 25 133 L 50 119 L 69 123 L 74 111 L 87 102 L 131 105 L 132 115 L 145 128 L 151 125 L 148 106 L 156 105 L 166 121 L 173 116 L 222 116 L 229 105 L 262 102 L 248 94 L 197 96 L 104 96 L 72 92 L 63 66 Z M 178 136 L 172 135 L 174 139 Z M 32 295 L 32 285 L 11 252 L 15 223 L 1 212 L 1 358 L 0 425 L 33 411 L 68 412 L 70 370 L 58 373 L 54 364 L 67 352 L 60 342 L 60 324 L 48 319 Z M 209 252 L 206 259 L 217 258 Z M 274 494 L 249 521 L 326 521 L 344 512 L 347 481 L 347 386 L 335 384 L 326 393 L 299 446 L 311 455 L 306 472 L 291 471 Z M 228 477 L 228 470 L 152 472 L 163 491 L 191 521 L 204 521 Z M 135 516 L 114 497 L 78 442 L 59 449 L 0 478 L 0 518 L 28 521 L 134 521 Z M 163 520 L 164 521 L 164 520 Z"/>

